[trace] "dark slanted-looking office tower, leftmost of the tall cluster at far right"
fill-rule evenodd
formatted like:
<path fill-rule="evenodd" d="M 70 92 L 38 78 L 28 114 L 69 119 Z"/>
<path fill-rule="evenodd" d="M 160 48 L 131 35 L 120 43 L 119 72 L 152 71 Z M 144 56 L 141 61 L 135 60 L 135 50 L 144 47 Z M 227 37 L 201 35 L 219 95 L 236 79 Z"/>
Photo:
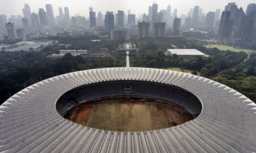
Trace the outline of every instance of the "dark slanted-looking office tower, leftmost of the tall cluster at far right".
<path fill-rule="evenodd" d="M 229 38 L 231 34 L 232 24 L 230 23 L 230 11 L 223 11 L 221 13 L 220 26 L 218 29 L 218 40 Z"/>

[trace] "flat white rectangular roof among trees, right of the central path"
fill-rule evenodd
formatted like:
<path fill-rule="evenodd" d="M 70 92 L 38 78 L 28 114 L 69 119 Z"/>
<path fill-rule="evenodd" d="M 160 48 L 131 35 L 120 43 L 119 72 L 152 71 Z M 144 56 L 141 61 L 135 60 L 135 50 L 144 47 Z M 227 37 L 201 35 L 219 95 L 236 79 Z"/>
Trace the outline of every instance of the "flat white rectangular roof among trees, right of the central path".
<path fill-rule="evenodd" d="M 177 54 L 177 55 L 202 55 L 207 56 L 206 54 L 200 52 L 196 49 L 168 49 L 168 52 L 171 54 Z"/>

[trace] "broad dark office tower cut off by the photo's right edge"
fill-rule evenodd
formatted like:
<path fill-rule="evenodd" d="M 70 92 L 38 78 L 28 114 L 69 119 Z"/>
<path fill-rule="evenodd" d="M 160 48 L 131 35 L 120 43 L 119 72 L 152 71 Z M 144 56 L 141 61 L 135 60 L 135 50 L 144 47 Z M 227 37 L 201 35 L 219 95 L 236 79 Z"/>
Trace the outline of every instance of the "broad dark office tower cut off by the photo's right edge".
<path fill-rule="evenodd" d="M 253 31 L 256 23 L 256 11 L 252 11 L 249 15 L 245 15 L 239 28 L 239 38 L 244 41 L 253 40 Z"/>

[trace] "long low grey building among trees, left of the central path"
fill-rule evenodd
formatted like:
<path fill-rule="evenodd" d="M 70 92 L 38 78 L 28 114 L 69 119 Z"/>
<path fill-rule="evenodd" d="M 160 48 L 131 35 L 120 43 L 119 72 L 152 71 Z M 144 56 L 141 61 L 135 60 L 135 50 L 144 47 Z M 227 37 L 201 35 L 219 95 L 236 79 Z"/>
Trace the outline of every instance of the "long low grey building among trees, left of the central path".
<path fill-rule="evenodd" d="M 93 48 L 89 50 L 60 50 L 60 54 L 49 55 L 50 58 L 63 57 L 65 54 L 73 56 L 81 55 L 82 57 L 106 57 L 108 55 L 108 48 Z"/>

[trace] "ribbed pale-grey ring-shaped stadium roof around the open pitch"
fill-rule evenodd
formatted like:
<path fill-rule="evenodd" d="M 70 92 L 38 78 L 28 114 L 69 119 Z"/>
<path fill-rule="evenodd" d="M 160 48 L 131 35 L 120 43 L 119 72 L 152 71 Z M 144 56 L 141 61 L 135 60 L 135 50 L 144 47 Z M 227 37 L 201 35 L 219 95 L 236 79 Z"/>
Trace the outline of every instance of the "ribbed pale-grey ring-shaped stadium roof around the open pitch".
<path fill-rule="evenodd" d="M 196 119 L 143 132 L 105 131 L 64 119 L 56 101 L 84 84 L 144 80 L 176 85 L 202 103 Z M 0 106 L 0 152 L 256 152 L 256 105 L 230 87 L 188 73 L 102 68 L 33 84 Z"/>

